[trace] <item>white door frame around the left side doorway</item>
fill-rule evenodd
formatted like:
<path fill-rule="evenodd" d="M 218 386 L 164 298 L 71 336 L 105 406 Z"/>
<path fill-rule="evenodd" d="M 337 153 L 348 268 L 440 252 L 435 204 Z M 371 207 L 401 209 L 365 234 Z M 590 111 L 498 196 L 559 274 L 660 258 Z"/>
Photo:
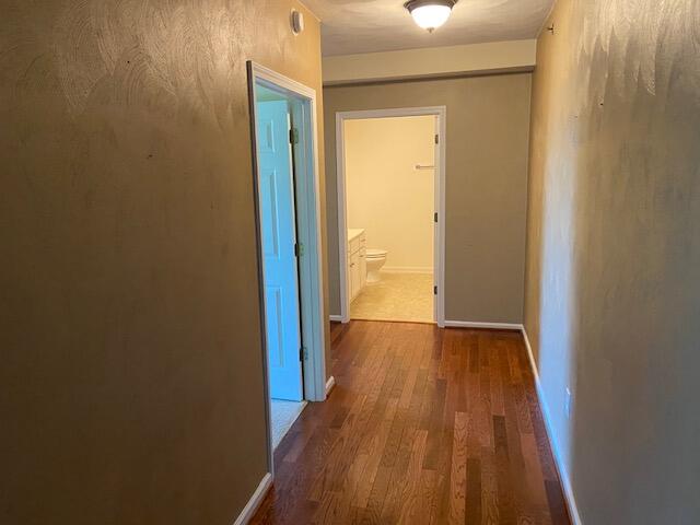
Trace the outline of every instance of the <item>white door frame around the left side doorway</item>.
<path fill-rule="evenodd" d="M 255 190 L 255 208 L 256 208 L 256 230 L 257 230 L 257 256 L 258 256 L 258 280 L 260 285 L 260 314 L 261 314 L 261 332 L 262 332 L 262 358 L 264 358 L 264 385 L 265 385 L 265 407 L 268 418 L 268 459 L 270 474 L 273 474 L 272 460 L 272 433 L 271 433 L 271 412 L 270 412 L 270 395 L 268 378 L 268 351 L 266 341 L 266 312 L 265 312 L 265 293 L 264 293 L 264 258 L 261 253 L 260 238 L 260 207 L 259 207 L 259 165 L 257 162 L 257 132 L 256 132 L 256 115 L 255 108 L 257 103 L 256 83 L 267 84 L 272 89 L 282 93 L 288 93 L 296 98 L 308 101 L 311 108 L 310 118 L 305 119 L 300 133 L 300 143 L 304 147 L 301 151 L 302 159 L 296 160 L 295 167 L 300 168 L 296 173 L 298 179 L 311 180 L 312 184 L 304 184 L 300 191 L 296 189 L 296 199 L 305 206 L 307 211 L 304 221 L 298 221 L 298 231 L 300 238 L 310 240 L 305 246 L 305 254 L 300 256 L 299 266 L 302 279 L 300 279 L 300 296 L 301 296 L 301 315 L 302 315 L 302 340 L 306 349 L 303 355 L 303 381 L 304 381 L 304 399 L 311 401 L 323 401 L 326 399 L 326 352 L 325 352 L 325 323 L 326 315 L 324 313 L 323 299 L 323 259 L 320 248 L 320 189 L 318 180 L 318 130 L 317 130 L 317 113 L 316 113 L 316 91 L 289 79 L 271 69 L 259 63 L 248 61 L 248 96 L 250 103 L 250 140 L 253 144 L 253 170 L 254 170 L 254 190 Z M 307 136 L 307 126 L 311 127 L 311 137 Z M 311 158 L 311 159 L 310 159 Z M 301 208 L 301 207 L 300 207 Z M 303 267 L 303 268 L 302 268 Z M 304 276 L 307 276 L 304 279 Z"/>

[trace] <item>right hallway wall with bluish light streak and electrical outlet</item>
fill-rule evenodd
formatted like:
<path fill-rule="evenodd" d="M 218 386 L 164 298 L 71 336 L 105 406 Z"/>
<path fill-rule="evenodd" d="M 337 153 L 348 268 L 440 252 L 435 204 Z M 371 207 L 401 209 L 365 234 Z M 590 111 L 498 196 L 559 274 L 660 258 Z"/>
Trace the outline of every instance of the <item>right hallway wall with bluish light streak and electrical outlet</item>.
<path fill-rule="evenodd" d="M 586 525 L 700 523 L 699 8 L 559 0 L 539 37 L 525 325 Z"/>

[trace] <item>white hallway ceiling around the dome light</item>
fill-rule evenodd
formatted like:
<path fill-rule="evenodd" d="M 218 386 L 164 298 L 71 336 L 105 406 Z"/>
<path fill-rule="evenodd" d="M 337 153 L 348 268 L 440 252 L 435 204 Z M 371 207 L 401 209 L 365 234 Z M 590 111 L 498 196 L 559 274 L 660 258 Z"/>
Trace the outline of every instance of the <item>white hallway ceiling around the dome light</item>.
<path fill-rule="evenodd" d="M 553 0 L 459 0 L 445 25 L 428 33 L 405 0 L 304 0 L 320 19 L 323 54 L 389 51 L 535 38 Z"/>

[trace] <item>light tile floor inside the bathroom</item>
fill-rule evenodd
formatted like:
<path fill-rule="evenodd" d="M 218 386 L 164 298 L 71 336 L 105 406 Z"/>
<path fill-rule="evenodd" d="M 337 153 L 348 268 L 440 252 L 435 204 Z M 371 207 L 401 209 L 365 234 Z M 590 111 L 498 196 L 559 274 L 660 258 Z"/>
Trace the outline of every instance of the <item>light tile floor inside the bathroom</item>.
<path fill-rule="evenodd" d="M 364 287 L 352 302 L 350 318 L 432 323 L 432 273 L 382 272 L 382 280 Z"/>

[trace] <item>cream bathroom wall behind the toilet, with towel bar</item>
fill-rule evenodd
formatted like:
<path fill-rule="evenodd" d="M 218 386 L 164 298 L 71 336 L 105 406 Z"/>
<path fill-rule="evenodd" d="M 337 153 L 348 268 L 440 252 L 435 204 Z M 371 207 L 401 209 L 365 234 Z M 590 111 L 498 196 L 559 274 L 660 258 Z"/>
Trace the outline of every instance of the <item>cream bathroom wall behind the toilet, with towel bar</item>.
<path fill-rule="evenodd" d="M 384 269 L 433 271 L 435 117 L 346 120 L 349 228 L 387 249 Z"/>

